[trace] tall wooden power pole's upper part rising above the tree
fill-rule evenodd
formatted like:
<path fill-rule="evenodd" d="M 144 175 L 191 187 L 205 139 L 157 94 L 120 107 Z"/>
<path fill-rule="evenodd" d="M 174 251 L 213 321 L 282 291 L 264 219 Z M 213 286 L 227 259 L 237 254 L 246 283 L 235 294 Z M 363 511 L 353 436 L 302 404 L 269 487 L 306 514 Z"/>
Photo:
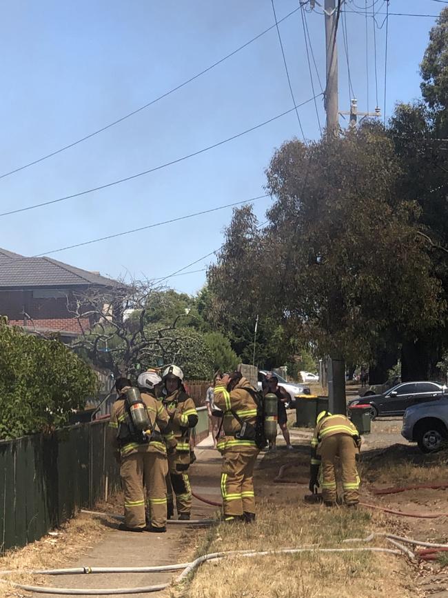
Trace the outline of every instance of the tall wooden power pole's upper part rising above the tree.
<path fill-rule="evenodd" d="M 336 0 L 325 0 L 324 12 L 327 66 L 327 83 L 325 86 L 325 112 L 327 112 L 327 133 L 336 134 L 339 126 L 338 46 L 336 44 Z"/>

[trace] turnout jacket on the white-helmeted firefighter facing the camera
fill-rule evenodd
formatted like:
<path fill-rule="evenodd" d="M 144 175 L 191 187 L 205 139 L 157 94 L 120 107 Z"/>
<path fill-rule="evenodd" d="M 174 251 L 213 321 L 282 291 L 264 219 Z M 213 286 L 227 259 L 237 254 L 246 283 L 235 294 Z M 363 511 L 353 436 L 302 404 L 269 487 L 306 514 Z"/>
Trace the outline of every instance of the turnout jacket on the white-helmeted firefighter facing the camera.
<path fill-rule="evenodd" d="M 190 429 L 198 423 L 198 412 L 185 390 L 179 388 L 172 395 L 164 397 L 163 407 L 167 410 L 176 439 L 176 461 L 190 464 Z"/>

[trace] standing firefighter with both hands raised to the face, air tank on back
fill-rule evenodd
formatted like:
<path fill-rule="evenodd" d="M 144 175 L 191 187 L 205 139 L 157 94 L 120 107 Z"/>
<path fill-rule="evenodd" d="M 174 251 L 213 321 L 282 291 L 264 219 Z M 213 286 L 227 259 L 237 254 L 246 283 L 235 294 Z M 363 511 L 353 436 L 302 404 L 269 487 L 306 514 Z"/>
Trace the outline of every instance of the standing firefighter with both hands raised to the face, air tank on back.
<path fill-rule="evenodd" d="M 214 388 L 214 403 L 224 412 L 225 436 L 218 439 L 217 446 L 224 457 L 221 469 L 224 521 L 255 520 L 253 474 L 259 452 L 255 443 L 255 392 L 241 372 L 223 375 Z"/>

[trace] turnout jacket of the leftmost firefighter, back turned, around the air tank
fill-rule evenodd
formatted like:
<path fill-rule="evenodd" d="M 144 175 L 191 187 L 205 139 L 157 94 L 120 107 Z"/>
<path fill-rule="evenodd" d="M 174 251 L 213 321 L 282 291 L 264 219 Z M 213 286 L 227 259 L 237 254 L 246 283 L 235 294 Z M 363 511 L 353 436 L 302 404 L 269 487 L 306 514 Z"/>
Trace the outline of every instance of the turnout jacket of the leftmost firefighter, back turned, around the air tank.
<path fill-rule="evenodd" d="M 127 388 L 123 388 L 121 396 L 125 395 L 126 390 Z M 176 447 L 176 439 L 170 425 L 170 416 L 155 397 L 146 392 L 141 392 L 140 396 L 143 403 L 145 403 L 147 416 L 154 430 L 152 440 L 149 443 L 136 442 L 134 440 L 125 443 L 119 442 L 119 428 L 125 423 L 126 416 L 125 397 L 123 397 L 123 399 L 116 399 L 110 414 L 109 428 L 116 432 L 112 439 L 112 444 L 114 448 L 120 450 L 121 457 L 128 457 L 128 455 L 132 455 L 134 452 L 160 452 L 166 455 L 167 447 L 170 449 Z"/>

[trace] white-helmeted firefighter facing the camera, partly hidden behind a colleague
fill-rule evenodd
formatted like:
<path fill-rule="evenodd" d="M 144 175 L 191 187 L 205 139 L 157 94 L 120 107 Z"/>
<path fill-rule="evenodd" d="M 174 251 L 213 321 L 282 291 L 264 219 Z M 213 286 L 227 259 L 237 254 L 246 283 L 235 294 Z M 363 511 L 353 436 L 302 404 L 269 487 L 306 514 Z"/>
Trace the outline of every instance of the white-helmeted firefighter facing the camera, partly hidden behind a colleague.
<path fill-rule="evenodd" d="M 174 515 L 174 497 L 179 519 L 190 519 L 192 491 L 187 470 L 190 467 L 190 430 L 198 423 L 198 414 L 193 399 L 185 392 L 183 371 L 178 366 L 168 366 L 163 372 L 166 395 L 163 398 L 177 441 L 176 454 L 168 455 L 167 476 L 168 519 Z"/>

